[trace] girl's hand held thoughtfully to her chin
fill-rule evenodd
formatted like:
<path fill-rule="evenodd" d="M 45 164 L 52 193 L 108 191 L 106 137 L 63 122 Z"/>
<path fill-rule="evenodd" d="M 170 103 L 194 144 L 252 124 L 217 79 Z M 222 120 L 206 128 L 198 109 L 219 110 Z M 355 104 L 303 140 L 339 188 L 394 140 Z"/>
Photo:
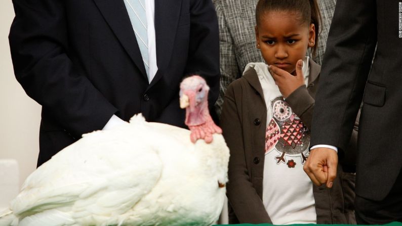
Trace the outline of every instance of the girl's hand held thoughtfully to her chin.
<path fill-rule="evenodd" d="M 269 66 L 271 75 L 275 80 L 275 84 L 279 87 L 279 91 L 288 98 L 298 87 L 304 85 L 303 76 L 303 61 L 299 60 L 296 63 L 296 76 L 289 74 L 287 71 L 277 68 L 273 65 Z"/>

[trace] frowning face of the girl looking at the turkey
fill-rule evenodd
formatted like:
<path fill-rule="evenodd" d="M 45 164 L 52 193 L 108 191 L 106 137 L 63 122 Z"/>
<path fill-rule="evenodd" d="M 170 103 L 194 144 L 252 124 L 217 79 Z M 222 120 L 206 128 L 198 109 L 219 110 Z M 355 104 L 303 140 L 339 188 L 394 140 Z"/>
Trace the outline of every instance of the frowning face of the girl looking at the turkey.
<path fill-rule="evenodd" d="M 314 24 L 300 22 L 300 13 L 271 11 L 261 15 L 255 27 L 257 48 L 268 65 L 296 75 L 296 63 L 315 44 Z"/>

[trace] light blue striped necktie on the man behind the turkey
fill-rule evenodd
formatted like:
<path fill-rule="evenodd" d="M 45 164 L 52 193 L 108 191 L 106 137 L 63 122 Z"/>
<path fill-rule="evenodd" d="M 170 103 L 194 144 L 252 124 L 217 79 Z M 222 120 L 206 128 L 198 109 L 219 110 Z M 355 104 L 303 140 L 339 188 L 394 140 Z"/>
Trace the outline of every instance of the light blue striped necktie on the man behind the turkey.
<path fill-rule="evenodd" d="M 148 33 L 145 0 L 124 0 L 149 79 Z"/>

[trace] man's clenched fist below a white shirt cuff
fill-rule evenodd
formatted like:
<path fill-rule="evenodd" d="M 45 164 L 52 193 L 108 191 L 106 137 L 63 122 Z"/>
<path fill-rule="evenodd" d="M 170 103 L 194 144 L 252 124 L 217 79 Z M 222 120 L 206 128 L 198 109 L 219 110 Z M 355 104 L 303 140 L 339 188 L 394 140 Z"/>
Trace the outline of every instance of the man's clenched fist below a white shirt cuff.
<path fill-rule="evenodd" d="M 314 148 L 310 151 L 303 169 L 316 186 L 327 184 L 327 188 L 331 188 L 336 177 L 337 165 L 338 154 L 335 150 Z"/>

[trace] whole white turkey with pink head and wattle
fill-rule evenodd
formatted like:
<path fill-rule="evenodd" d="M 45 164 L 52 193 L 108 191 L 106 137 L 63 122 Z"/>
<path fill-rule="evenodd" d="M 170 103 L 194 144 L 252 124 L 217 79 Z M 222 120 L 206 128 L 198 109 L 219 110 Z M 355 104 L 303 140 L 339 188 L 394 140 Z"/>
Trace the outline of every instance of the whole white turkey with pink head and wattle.
<path fill-rule="evenodd" d="M 180 88 L 191 131 L 136 115 L 84 134 L 28 176 L 0 225 L 214 223 L 229 150 L 209 115 L 205 80 L 191 76 Z"/>

